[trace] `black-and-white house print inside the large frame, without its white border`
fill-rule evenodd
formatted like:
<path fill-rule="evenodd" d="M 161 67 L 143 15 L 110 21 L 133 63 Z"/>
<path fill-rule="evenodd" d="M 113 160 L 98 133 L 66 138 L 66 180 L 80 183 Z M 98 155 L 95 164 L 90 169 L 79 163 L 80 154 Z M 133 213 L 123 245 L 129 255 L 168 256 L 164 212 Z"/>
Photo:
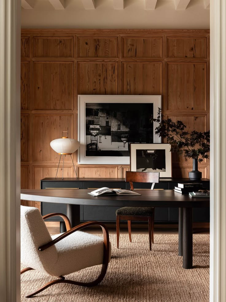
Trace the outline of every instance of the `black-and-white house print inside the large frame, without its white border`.
<path fill-rule="evenodd" d="M 130 156 L 153 143 L 153 103 L 86 103 L 86 156 Z"/>

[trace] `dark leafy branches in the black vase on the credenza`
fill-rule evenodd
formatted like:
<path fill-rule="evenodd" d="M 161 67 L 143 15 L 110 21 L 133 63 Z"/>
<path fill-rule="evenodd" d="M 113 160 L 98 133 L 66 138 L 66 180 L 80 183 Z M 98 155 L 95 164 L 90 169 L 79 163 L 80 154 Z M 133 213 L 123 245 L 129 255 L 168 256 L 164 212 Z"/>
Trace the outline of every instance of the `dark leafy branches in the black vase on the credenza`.
<path fill-rule="evenodd" d="M 209 158 L 210 131 L 193 130 L 188 132 L 186 131 L 187 126 L 183 122 L 174 123 L 172 119 L 163 119 L 161 108 L 158 108 L 157 118 L 151 119 L 151 121 L 158 123 L 155 134 L 167 139 L 167 143 L 171 145 L 171 152 L 198 159 L 199 162 Z"/>

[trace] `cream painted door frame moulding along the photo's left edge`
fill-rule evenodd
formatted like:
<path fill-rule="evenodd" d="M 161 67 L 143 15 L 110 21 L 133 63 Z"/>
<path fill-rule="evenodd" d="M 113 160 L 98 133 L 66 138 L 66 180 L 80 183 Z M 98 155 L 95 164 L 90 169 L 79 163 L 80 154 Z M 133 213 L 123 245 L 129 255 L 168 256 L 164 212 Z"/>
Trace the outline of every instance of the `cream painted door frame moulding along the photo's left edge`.
<path fill-rule="evenodd" d="M 20 299 L 20 14 L 0 0 L 0 300 Z"/>

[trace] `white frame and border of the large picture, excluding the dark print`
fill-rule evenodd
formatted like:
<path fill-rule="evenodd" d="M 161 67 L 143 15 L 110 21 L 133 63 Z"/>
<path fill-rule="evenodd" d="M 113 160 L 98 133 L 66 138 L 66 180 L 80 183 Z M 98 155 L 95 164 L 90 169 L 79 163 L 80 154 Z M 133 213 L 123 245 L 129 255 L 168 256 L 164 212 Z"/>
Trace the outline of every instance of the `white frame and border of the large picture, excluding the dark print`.
<path fill-rule="evenodd" d="M 118 104 L 128 104 L 128 106 L 129 104 L 135 104 L 135 103 L 139 105 L 144 104 L 144 106 L 146 106 L 145 104 L 150 103 L 153 104 L 153 117 L 156 118 L 158 114 L 158 108 L 161 108 L 162 105 L 161 95 L 78 95 L 78 140 L 80 142 L 80 148 L 78 150 L 78 164 L 129 165 L 130 156 L 96 156 L 96 155 L 87 156 L 86 151 L 88 148 L 88 143 L 87 143 L 87 135 L 86 135 L 86 107 L 89 106 L 88 105 L 89 103 L 93 103 L 93 104 L 118 103 Z M 108 105 L 108 106 L 113 106 L 113 105 Z M 123 106 L 125 107 L 125 105 Z M 153 143 L 161 143 L 161 138 L 154 133 L 154 129 L 157 127 L 157 125 L 158 124 L 156 122 L 153 123 Z M 96 126 L 93 125 L 93 127 Z M 123 145 L 123 142 L 120 142 L 120 144 Z M 91 144 L 89 143 L 89 145 Z M 122 146 L 118 146 L 118 147 L 121 147 L 122 149 Z"/>

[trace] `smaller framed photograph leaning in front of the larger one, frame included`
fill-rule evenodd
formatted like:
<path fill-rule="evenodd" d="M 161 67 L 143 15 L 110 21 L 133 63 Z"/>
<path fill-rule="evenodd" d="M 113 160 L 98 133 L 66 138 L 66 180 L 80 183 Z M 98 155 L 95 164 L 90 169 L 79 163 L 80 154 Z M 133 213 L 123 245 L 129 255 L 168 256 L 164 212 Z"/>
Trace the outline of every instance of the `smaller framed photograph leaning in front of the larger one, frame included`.
<path fill-rule="evenodd" d="M 131 144 L 130 171 L 160 172 L 160 177 L 172 177 L 170 144 Z"/>

